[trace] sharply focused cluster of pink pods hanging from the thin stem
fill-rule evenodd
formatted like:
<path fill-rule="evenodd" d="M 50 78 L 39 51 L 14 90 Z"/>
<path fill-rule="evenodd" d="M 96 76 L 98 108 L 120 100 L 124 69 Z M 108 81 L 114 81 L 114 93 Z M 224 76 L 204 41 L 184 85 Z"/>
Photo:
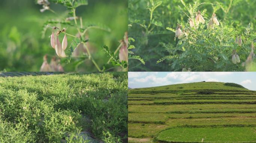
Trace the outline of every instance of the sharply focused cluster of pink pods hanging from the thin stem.
<path fill-rule="evenodd" d="M 56 51 L 56 54 L 59 56 L 59 57 L 66 57 L 66 54 L 65 54 L 65 51 L 66 48 L 67 48 L 67 36 L 66 36 L 66 29 L 63 28 L 63 30 L 60 30 L 60 31 L 57 31 L 56 35 L 57 35 L 57 39 L 55 40 L 55 36 L 54 36 L 54 30 L 55 29 L 59 29 L 57 27 L 52 27 L 52 35 L 51 35 L 51 45 L 52 45 L 52 48 L 55 49 Z M 63 41 L 62 41 L 62 44 L 60 43 L 60 40 L 59 40 L 59 35 L 60 33 L 64 32 L 65 33 L 65 36 L 63 38 Z"/>

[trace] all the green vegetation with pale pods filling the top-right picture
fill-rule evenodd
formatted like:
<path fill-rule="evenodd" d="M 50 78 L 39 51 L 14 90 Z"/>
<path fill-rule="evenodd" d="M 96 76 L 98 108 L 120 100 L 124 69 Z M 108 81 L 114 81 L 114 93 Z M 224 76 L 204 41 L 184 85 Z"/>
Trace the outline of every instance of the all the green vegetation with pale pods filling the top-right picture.
<path fill-rule="evenodd" d="M 256 71 L 255 7 L 255 0 L 129 0 L 130 53 L 140 59 L 129 59 L 129 71 Z"/>

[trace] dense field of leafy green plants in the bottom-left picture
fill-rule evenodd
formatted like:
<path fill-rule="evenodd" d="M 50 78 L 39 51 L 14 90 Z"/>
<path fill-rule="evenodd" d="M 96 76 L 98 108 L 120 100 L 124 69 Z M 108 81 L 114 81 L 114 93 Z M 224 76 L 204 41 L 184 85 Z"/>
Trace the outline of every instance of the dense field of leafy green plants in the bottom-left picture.
<path fill-rule="evenodd" d="M 3 74 L 1 143 L 128 142 L 127 73 Z"/>

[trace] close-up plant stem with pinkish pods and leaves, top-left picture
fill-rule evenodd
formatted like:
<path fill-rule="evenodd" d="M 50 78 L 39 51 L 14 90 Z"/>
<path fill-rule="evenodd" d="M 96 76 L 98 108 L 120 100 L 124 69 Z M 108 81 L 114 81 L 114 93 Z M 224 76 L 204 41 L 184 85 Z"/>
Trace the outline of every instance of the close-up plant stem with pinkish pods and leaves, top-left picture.
<path fill-rule="evenodd" d="M 127 71 L 127 34 L 124 34 L 124 39 L 120 39 L 120 44 L 117 48 L 115 48 L 115 52 L 110 51 L 110 48 L 108 48 L 106 45 L 102 45 L 101 51 L 105 52 L 105 56 L 109 57 L 109 60 L 102 62 L 102 58 L 96 59 L 92 55 L 94 47 L 91 46 L 91 39 L 89 40 L 89 30 L 100 29 L 107 32 L 111 32 L 111 30 L 102 24 L 88 24 L 88 21 L 83 20 L 82 16 L 76 15 L 77 7 L 88 5 L 88 0 L 37 0 L 36 2 L 43 7 L 40 9 L 40 12 L 49 10 L 56 14 L 55 19 L 45 22 L 43 35 L 47 29 L 51 30 L 52 34 L 49 35 L 49 43 L 51 44 L 49 45 L 51 45 L 53 50 L 56 51 L 57 57 L 66 58 L 66 63 L 73 62 L 78 66 L 85 63 L 86 60 L 90 60 L 91 63 L 94 64 L 95 69 L 98 71 L 113 70 L 115 67 L 119 67 L 119 69 L 116 70 Z M 58 3 L 65 6 L 68 13 L 63 14 L 55 12 L 53 9 L 51 9 L 51 3 Z M 86 21 L 87 24 L 84 21 Z M 62 39 L 61 37 L 64 38 Z M 95 41 L 95 39 L 92 40 Z M 71 59 L 76 59 L 76 61 L 71 61 Z M 103 64 L 98 64 L 99 61 Z M 41 71 L 61 71 L 55 70 L 55 68 L 52 68 L 51 66 L 49 68 L 47 62 L 47 60 L 44 60 Z M 44 65 L 46 65 L 46 67 Z"/>

